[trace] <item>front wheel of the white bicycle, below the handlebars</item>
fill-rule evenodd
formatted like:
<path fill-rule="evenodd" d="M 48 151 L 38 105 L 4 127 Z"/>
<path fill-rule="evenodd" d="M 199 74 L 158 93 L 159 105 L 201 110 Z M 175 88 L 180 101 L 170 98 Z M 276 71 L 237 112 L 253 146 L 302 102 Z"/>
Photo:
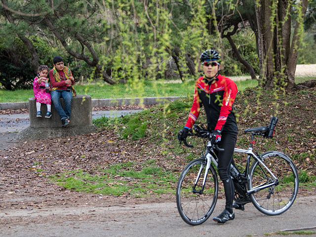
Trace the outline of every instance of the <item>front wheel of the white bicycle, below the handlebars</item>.
<path fill-rule="evenodd" d="M 189 225 L 200 225 L 212 214 L 218 196 L 218 180 L 211 165 L 203 187 L 206 160 L 192 160 L 182 171 L 177 186 L 177 207 Z"/>

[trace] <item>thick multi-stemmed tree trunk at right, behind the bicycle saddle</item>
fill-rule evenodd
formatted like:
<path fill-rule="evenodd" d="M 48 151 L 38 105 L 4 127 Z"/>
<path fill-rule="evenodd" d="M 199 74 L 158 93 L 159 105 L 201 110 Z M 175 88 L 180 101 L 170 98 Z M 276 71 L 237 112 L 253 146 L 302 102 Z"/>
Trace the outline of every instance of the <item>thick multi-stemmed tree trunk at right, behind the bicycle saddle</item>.
<path fill-rule="evenodd" d="M 259 80 L 259 85 L 264 89 L 292 90 L 302 88 L 294 83 L 294 76 L 300 37 L 302 36 L 300 30 L 303 27 L 308 0 L 300 1 L 300 12 L 291 47 L 290 14 L 294 6 L 289 0 L 280 0 L 277 5 L 274 5 L 275 3 L 274 0 L 255 1 L 260 77 L 262 77 Z"/>

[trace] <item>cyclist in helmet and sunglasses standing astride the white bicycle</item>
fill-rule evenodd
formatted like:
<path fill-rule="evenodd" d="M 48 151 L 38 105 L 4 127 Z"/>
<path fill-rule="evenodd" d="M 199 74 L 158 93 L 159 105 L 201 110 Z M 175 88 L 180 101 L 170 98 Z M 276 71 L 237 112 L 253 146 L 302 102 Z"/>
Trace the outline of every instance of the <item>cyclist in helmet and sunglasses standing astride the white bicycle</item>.
<path fill-rule="evenodd" d="M 205 50 L 199 57 L 203 65 L 204 76 L 195 84 L 193 105 L 184 128 L 179 131 L 178 139 L 184 140 L 197 120 L 203 106 L 206 112 L 207 128 L 212 131 L 211 142 L 218 144 L 224 152 L 218 152 L 218 173 L 224 184 L 226 205 L 225 210 L 214 217 L 218 223 L 233 220 L 235 213 L 233 201 L 235 195 L 234 183 L 230 175 L 230 165 L 233 162 L 234 147 L 237 139 L 237 123 L 232 112 L 237 94 L 236 83 L 219 74 L 220 56 L 214 49 Z"/>

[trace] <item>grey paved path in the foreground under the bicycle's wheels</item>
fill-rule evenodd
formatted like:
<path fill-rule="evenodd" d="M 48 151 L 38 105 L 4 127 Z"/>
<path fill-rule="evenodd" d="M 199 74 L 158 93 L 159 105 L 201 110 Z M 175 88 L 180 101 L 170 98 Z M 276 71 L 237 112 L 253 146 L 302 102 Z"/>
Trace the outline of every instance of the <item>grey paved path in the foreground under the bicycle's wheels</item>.
<path fill-rule="evenodd" d="M 316 231 L 316 196 L 297 197 L 291 208 L 278 216 L 262 214 L 248 203 L 245 211 L 235 210 L 235 220 L 217 224 L 212 217 L 223 207 L 224 199 L 218 200 L 209 220 L 195 227 L 181 219 L 175 201 L 4 209 L 0 218 L 8 224 L 0 226 L 0 233 L 2 237 L 277 237 L 283 236 L 276 234 L 283 230 L 314 227 Z M 295 236 L 305 235 L 290 235 Z"/>

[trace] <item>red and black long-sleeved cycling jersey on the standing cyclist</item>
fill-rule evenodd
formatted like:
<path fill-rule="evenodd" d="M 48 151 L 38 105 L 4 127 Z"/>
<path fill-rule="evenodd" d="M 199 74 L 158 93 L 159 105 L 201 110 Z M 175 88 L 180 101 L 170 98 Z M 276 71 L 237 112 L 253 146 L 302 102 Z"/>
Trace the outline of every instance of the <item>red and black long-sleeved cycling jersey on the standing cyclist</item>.
<path fill-rule="evenodd" d="M 193 105 L 185 127 L 192 128 L 202 105 L 205 108 L 209 130 L 237 134 L 235 113 L 231 113 L 237 94 L 236 83 L 222 75 L 209 82 L 204 77 L 197 79 Z"/>

